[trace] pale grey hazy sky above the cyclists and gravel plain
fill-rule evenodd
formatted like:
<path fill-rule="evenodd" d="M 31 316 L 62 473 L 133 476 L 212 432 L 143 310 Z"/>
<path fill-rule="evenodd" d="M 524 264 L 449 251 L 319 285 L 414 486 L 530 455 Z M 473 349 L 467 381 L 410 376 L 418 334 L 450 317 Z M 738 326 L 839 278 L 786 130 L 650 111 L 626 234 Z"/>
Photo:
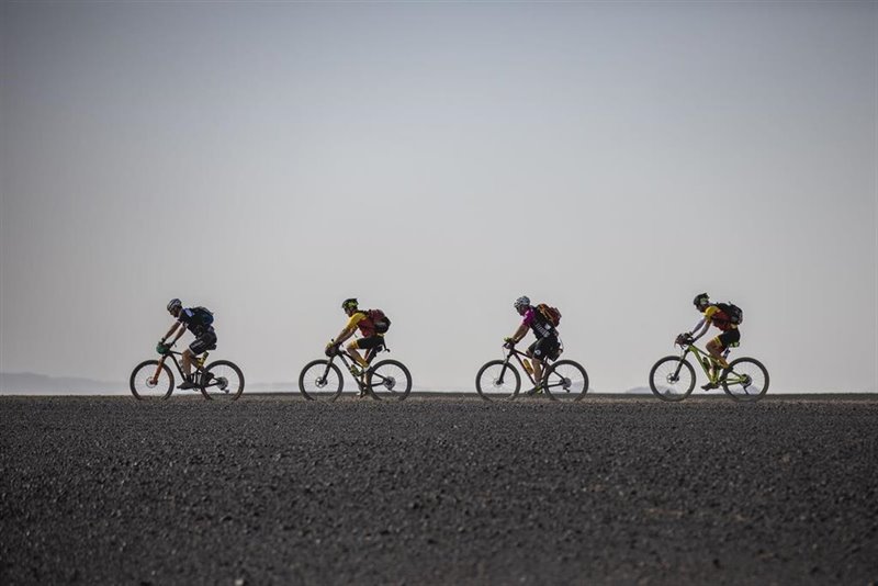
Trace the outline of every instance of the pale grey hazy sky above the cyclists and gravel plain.
<path fill-rule="evenodd" d="M 707 291 L 774 391 L 878 390 L 876 2 L 0 11 L 4 372 L 126 382 L 179 296 L 294 388 L 357 296 L 472 390 L 527 294 L 623 391 Z"/>

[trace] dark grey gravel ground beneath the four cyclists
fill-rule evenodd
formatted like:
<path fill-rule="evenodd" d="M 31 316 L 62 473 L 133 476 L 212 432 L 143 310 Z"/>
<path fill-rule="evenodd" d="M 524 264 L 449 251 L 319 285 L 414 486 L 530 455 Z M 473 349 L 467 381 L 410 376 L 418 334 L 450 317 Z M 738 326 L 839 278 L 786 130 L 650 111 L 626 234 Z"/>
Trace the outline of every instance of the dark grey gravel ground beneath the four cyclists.
<path fill-rule="evenodd" d="M 876 584 L 878 397 L 0 397 L 2 584 Z"/>

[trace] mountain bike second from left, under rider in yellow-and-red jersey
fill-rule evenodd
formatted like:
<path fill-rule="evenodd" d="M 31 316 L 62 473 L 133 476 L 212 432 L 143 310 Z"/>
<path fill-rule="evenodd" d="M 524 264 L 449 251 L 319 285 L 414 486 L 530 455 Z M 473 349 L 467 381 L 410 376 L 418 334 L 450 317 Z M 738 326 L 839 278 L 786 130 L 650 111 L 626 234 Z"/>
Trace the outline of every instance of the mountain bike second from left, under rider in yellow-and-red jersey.
<path fill-rule="evenodd" d="M 357 382 L 359 396 L 369 395 L 376 401 L 404 401 L 412 392 L 412 374 L 398 360 L 386 359 L 372 364 L 382 351 L 390 352 L 390 348 L 382 343 L 367 350 L 364 358 L 369 368 L 363 370 L 350 354 L 339 350 L 337 346 L 330 346 L 326 352 L 327 358 L 312 360 L 302 369 L 299 375 L 299 390 L 308 401 L 337 399 L 345 387 L 341 369 L 335 363 L 338 359 Z"/>

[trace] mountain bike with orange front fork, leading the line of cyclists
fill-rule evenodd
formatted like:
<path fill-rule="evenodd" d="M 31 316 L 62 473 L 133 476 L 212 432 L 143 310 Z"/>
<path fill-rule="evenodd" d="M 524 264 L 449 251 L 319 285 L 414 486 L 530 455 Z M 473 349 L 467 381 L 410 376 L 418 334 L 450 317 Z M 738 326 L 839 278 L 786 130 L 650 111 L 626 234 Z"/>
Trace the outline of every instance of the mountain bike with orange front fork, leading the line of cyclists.
<path fill-rule="evenodd" d="M 214 346 L 209 350 L 215 348 Z M 196 388 L 192 388 L 192 391 L 200 391 L 204 398 L 210 401 L 236 401 L 244 392 L 244 374 L 234 362 L 228 360 L 216 360 L 205 367 L 204 362 L 209 354 L 210 352 L 204 352 L 193 363 L 195 372 L 192 374 L 192 381 Z M 170 358 L 173 365 L 177 367 L 180 380 L 183 380 L 183 368 L 177 358 L 182 356 L 182 352 L 169 349 L 158 360 L 145 360 L 137 364 L 131 373 L 128 383 L 134 398 L 145 401 L 170 397 L 175 390 L 175 381 L 173 373 L 166 362 Z"/>

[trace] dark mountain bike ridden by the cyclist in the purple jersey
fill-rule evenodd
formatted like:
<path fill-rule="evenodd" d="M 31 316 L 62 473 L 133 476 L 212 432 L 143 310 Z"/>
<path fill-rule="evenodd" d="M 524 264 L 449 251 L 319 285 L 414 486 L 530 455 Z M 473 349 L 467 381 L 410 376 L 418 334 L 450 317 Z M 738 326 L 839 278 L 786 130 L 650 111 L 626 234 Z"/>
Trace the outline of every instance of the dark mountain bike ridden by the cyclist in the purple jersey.
<path fill-rule="evenodd" d="M 505 343 L 508 350 L 503 360 L 491 360 L 475 375 L 475 391 L 485 401 L 513 401 L 521 390 L 521 375 L 513 363 L 513 359 L 518 362 L 525 371 L 533 388 L 528 394 L 538 393 L 537 388 L 545 393 L 552 401 L 581 401 L 588 392 L 588 374 L 578 362 L 573 360 L 558 360 L 553 362 L 547 358 L 543 365 L 543 373 L 540 384 L 533 377 L 533 367 L 528 360 L 528 356 L 516 350 L 514 345 Z M 563 346 L 559 349 L 559 356 L 563 351 Z M 558 358 L 558 357 L 555 357 Z"/>

